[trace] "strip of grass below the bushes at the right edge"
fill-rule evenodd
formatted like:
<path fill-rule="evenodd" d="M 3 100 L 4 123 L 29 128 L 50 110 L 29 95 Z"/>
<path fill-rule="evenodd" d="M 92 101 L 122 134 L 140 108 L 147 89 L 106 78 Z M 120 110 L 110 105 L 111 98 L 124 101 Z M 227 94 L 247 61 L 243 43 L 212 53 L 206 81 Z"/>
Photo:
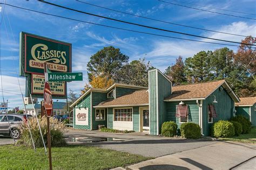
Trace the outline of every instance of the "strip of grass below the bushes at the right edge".
<path fill-rule="evenodd" d="M 240 134 L 237 137 L 231 138 L 219 138 L 220 140 L 231 140 L 231 141 L 239 141 L 244 143 L 256 144 L 256 127 L 252 128 L 252 131 L 248 134 Z"/>

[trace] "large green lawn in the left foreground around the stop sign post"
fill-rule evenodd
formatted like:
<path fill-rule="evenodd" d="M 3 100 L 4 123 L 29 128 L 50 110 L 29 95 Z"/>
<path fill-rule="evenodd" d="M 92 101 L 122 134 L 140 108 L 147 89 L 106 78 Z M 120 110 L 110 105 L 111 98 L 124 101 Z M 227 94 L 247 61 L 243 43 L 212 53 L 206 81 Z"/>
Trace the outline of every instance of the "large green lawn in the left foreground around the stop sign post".
<path fill-rule="evenodd" d="M 151 158 L 92 146 L 52 148 L 53 169 L 106 169 L 125 167 Z M 48 157 L 43 148 L 14 145 L 0 146 L 0 169 L 48 169 Z"/>

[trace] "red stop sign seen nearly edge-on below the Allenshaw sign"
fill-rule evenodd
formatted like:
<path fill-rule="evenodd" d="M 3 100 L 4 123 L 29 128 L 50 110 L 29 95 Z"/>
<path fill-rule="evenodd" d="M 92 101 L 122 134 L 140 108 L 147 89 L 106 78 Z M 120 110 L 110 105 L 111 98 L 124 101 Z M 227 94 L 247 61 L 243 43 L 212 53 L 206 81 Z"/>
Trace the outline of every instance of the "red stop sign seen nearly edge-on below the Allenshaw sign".
<path fill-rule="evenodd" d="M 52 96 L 51 88 L 48 82 L 44 83 L 44 108 L 48 117 L 51 117 L 52 113 Z"/>

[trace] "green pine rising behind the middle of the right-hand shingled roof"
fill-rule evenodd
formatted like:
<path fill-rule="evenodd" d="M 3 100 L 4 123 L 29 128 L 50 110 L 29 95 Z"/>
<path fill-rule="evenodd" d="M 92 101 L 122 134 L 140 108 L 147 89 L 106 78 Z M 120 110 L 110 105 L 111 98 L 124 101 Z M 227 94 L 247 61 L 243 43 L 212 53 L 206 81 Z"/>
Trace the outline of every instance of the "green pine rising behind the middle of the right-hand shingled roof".
<path fill-rule="evenodd" d="M 192 82 L 203 82 L 212 79 L 210 55 L 211 51 L 201 51 L 185 60 L 185 73 Z"/>

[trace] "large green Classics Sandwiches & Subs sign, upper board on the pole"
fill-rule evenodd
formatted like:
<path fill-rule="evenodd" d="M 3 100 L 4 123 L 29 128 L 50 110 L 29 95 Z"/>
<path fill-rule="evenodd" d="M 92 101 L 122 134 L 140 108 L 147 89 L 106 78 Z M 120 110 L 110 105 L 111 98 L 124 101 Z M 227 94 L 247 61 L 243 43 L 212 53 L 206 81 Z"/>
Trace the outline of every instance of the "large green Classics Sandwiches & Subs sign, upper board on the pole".
<path fill-rule="evenodd" d="M 52 72 L 72 72 L 71 44 L 24 32 L 21 41 L 20 58 L 25 73 L 44 73 L 44 62 Z"/>

